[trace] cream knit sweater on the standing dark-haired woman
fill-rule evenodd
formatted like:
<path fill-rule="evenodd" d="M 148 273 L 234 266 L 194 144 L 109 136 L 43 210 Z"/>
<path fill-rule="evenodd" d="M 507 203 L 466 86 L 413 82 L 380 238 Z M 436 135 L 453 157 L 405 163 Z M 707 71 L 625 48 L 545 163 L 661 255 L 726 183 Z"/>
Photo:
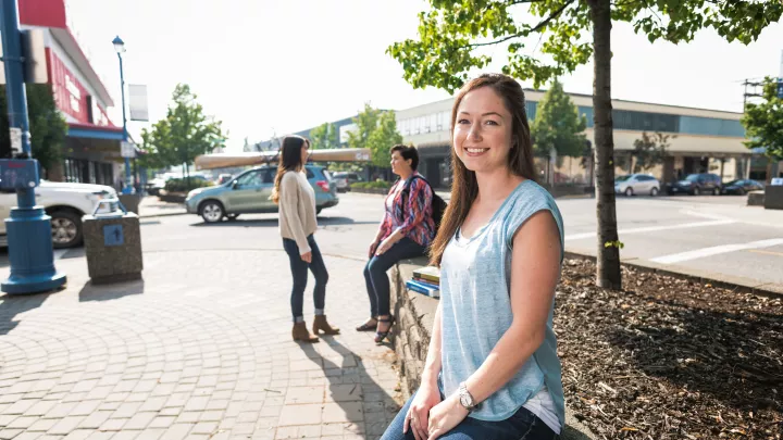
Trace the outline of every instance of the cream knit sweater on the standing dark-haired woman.
<path fill-rule="evenodd" d="M 315 191 L 303 172 L 286 172 L 279 187 L 279 230 L 296 241 L 299 253 L 310 252 L 307 238 L 315 232 Z"/>

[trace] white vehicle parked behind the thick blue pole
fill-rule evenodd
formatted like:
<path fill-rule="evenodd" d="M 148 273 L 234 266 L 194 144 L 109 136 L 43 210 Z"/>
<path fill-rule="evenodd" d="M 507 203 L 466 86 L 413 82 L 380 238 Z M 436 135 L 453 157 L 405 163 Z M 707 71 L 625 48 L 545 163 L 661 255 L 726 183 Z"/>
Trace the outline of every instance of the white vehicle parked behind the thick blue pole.
<path fill-rule="evenodd" d="M 90 184 L 65 184 L 41 180 L 36 188 L 36 204 L 51 216 L 52 242 L 55 249 L 82 244 L 82 216 L 92 214 L 102 199 L 116 199 L 112 187 Z M 16 192 L 0 192 L 0 247 L 8 246 L 5 222 L 16 206 Z"/>

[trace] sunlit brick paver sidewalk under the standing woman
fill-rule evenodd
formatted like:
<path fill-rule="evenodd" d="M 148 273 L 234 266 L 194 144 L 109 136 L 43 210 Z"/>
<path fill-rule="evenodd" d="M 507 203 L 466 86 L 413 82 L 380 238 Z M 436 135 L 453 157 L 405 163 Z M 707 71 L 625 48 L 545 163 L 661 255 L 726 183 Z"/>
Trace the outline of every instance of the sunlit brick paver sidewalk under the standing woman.
<path fill-rule="evenodd" d="M 0 439 L 380 437 L 394 353 L 353 330 L 362 263 L 326 265 L 344 335 L 300 345 L 282 251 L 147 253 L 144 281 L 108 287 L 84 259 L 59 261 L 66 290 L 0 297 Z"/>

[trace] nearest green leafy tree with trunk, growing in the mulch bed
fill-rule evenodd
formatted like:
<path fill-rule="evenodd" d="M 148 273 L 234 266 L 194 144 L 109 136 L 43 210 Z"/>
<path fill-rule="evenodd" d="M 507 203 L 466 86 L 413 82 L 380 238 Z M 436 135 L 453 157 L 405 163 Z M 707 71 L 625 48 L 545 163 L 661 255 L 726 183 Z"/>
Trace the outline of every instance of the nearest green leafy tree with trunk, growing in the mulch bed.
<path fill-rule="evenodd" d="M 630 22 L 650 42 L 691 41 L 712 28 L 728 41 L 749 43 L 780 20 L 780 0 L 428 0 L 419 15 L 419 39 L 388 48 L 418 88 L 453 92 L 505 45 L 502 72 L 535 87 L 573 72 L 593 58 L 593 113 L 597 183 L 597 284 L 620 289 L 620 246 L 614 209 L 614 142 L 611 117 L 612 21 Z M 526 21 L 532 17 L 534 21 Z M 537 43 L 540 41 L 540 45 Z M 526 45 L 534 43 L 533 50 Z M 536 54 L 538 49 L 540 54 Z"/>

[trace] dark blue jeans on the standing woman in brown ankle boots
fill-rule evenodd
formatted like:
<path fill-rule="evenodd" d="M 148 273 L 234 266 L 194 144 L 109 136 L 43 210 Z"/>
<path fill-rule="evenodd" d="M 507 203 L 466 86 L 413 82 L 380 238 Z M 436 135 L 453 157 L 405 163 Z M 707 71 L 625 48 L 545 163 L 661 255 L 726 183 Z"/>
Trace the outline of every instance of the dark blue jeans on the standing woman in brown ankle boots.
<path fill-rule="evenodd" d="M 315 303 L 315 314 L 323 314 L 324 302 L 326 298 L 326 281 L 328 281 L 328 272 L 321 256 L 315 238 L 308 236 L 308 244 L 312 252 L 312 261 L 308 264 L 301 259 L 299 247 L 296 241 L 284 238 L 283 248 L 290 260 L 291 277 L 294 278 L 294 288 L 291 289 L 291 314 L 294 323 L 302 319 L 302 306 L 304 303 L 304 288 L 307 287 L 307 271 L 310 268 L 313 277 L 315 277 L 315 288 L 313 289 L 313 302 Z M 319 313 L 320 312 L 320 313 Z"/>

